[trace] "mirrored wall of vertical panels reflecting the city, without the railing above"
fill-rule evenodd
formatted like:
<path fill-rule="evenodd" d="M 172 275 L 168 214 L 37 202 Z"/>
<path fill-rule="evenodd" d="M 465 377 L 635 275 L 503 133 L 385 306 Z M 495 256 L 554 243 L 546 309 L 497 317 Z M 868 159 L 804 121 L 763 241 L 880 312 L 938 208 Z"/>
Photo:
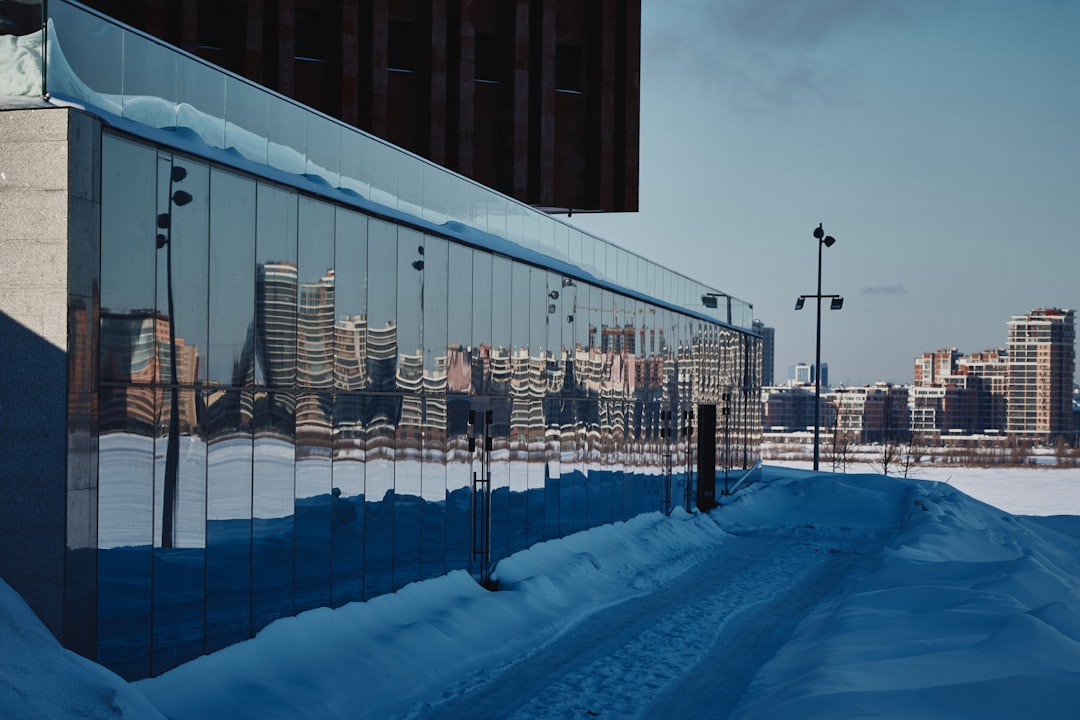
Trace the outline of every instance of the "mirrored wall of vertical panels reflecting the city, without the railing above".
<path fill-rule="evenodd" d="M 97 656 L 126 677 L 684 505 L 700 405 L 730 408 L 717 466 L 757 460 L 738 328 L 109 132 L 102 195 Z"/>

